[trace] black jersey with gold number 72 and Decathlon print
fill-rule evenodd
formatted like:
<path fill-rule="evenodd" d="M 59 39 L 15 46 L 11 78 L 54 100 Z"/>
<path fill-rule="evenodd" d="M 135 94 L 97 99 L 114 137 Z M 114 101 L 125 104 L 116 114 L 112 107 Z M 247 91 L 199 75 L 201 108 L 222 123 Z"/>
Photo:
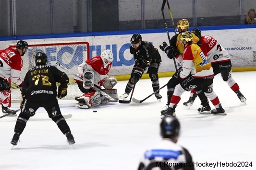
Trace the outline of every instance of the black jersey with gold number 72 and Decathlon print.
<path fill-rule="evenodd" d="M 27 101 L 53 100 L 57 97 L 56 82 L 67 88 L 68 76 L 54 66 L 35 66 L 24 78 L 22 96 Z"/>

